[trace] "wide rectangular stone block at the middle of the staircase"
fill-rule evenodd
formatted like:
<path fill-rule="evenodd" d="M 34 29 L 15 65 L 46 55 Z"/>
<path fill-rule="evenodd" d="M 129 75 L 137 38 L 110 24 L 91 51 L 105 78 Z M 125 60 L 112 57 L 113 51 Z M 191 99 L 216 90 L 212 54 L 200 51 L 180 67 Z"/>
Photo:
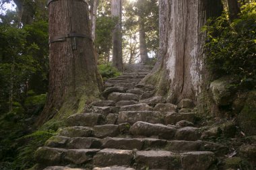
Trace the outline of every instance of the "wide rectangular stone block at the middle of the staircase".
<path fill-rule="evenodd" d="M 129 124 L 135 124 L 135 122 L 149 122 L 152 124 L 163 124 L 164 114 L 156 111 L 122 111 L 119 112 L 119 118 L 117 122 L 119 124 L 128 122 Z"/>

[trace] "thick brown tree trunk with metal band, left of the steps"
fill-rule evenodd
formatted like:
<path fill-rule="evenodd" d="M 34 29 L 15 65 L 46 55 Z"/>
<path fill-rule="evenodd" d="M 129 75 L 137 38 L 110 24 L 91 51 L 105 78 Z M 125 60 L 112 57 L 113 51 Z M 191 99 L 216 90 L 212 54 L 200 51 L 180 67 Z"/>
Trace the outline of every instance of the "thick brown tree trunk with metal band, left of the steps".
<path fill-rule="evenodd" d="M 88 4 L 73 0 L 52 1 L 49 4 L 50 40 L 70 33 L 86 37 L 69 37 L 50 44 L 49 93 L 37 125 L 54 116 L 60 119 L 81 112 L 102 89 L 91 38 Z"/>

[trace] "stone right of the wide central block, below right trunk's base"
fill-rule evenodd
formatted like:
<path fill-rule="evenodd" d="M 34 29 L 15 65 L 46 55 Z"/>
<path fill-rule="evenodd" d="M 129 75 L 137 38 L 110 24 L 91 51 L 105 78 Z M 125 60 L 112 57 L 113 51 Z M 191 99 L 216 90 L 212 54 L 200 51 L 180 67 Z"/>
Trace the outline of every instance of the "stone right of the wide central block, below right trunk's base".
<path fill-rule="evenodd" d="M 176 124 L 181 120 L 187 120 L 189 122 L 195 123 L 197 116 L 194 112 L 191 113 L 176 113 L 170 112 L 166 114 L 165 124 Z"/>

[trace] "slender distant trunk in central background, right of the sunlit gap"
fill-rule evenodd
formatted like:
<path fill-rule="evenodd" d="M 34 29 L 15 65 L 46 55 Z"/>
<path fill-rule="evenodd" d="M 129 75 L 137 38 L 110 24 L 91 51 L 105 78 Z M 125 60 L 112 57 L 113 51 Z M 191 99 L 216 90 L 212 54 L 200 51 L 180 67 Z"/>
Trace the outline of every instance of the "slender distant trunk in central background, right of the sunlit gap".
<path fill-rule="evenodd" d="M 148 50 L 146 46 L 145 26 L 141 17 L 139 17 L 139 55 L 141 63 L 145 64 L 148 61 Z"/>

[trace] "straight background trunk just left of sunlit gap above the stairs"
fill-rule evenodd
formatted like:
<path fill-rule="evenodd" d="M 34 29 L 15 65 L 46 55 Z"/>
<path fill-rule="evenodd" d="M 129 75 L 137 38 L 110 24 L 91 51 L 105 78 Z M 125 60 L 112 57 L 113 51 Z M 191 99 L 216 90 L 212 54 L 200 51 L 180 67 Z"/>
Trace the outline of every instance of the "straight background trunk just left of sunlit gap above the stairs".
<path fill-rule="evenodd" d="M 111 15 L 118 19 L 117 25 L 113 30 L 113 67 L 123 71 L 122 0 L 111 0 Z"/>

